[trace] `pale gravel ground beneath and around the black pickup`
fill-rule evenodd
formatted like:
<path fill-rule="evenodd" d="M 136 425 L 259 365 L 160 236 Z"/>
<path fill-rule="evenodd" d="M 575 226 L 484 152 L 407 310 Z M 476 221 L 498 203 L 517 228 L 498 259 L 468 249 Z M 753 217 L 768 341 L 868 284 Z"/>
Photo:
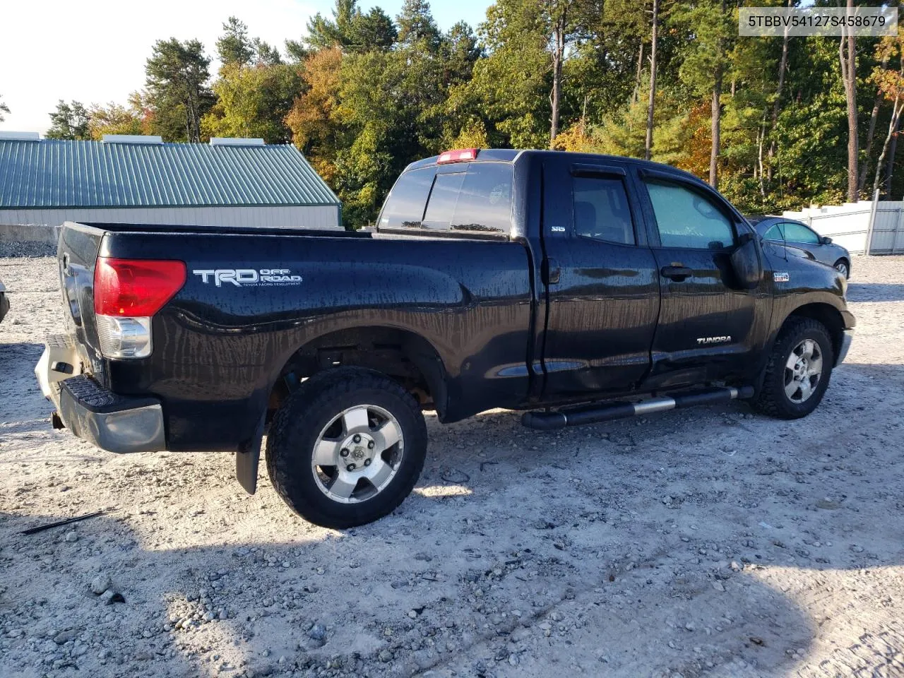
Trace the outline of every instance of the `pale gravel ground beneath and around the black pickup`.
<path fill-rule="evenodd" d="M 807 419 L 428 415 L 414 494 L 336 532 L 229 455 L 53 431 L 54 262 L 2 258 L 0 675 L 902 675 L 904 258 L 853 271 L 857 337 Z"/>

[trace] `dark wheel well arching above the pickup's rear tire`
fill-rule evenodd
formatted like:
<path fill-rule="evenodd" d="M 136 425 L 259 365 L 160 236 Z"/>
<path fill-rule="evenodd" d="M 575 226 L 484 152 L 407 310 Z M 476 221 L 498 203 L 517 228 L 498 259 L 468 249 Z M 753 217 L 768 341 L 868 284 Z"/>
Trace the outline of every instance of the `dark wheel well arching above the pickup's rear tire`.
<path fill-rule="evenodd" d="M 301 380 L 340 365 L 382 372 L 399 381 L 422 408 L 445 409 L 445 371 L 426 339 L 395 327 L 351 327 L 319 336 L 292 354 L 270 391 L 268 419 Z"/>

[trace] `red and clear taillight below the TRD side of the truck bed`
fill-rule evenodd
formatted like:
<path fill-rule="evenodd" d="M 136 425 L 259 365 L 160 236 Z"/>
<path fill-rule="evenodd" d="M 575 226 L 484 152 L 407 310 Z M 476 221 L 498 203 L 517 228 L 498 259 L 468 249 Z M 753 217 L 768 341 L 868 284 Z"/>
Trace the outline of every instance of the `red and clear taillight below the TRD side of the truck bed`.
<path fill-rule="evenodd" d="M 100 257 L 94 268 L 94 314 L 108 358 L 151 354 L 151 316 L 185 284 L 185 264 L 172 259 Z"/>

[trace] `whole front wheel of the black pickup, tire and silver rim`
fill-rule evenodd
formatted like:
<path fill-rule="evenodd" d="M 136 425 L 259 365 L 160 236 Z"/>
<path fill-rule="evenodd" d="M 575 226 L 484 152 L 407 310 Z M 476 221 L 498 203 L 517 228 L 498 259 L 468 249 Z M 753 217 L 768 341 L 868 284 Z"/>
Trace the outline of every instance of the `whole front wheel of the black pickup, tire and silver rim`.
<path fill-rule="evenodd" d="M 833 364 L 825 325 L 810 318 L 789 318 L 772 347 L 753 407 L 779 419 L 805 417 L 823 400 Z"/>

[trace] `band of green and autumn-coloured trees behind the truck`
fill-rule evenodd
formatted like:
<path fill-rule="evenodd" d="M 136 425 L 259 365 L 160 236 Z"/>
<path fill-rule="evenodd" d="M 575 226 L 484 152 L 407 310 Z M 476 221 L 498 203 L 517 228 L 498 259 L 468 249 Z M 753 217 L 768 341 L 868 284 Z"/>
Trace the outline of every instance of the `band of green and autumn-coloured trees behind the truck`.
<path fill-rule="evenodd" d="M 351 227 L 373 221 L 406 165 L 450 147 L 649 156 L 748 212 L 904 192 L 898 38 L 739 37 L 738 6 L 495 0 L 472 28 L 439 26 L 427 0 L 395 17 L 335 0 L 282 50 L 231 16 L 213 77 L 200 42 L 159 41 L 144 89 L 82 108 L 93 138 L 291 142 Z M 60 134 L 84 137 L 71 112 L 55 111 Z"/>

